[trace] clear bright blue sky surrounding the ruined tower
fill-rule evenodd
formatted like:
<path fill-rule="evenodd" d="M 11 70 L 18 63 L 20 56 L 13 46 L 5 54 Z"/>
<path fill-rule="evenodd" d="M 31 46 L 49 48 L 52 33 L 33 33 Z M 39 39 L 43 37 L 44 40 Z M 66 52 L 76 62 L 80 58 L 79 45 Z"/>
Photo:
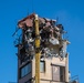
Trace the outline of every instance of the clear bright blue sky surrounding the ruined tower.
<path fill-rule="evenodd" d="M 0 83 L 17 82 L 17 22 L 32 12 L 56 19 L 71 42 L 70 71 L 84 83 L 84 0 L 0 0 Z"/>

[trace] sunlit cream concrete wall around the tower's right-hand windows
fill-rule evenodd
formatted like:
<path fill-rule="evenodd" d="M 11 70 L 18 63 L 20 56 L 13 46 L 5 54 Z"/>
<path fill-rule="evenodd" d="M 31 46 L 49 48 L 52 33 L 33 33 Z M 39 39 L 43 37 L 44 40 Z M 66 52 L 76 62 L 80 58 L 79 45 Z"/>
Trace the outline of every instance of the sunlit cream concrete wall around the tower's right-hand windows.
<path fill-rule="evenodd" d="M 63 61 L 61 61 L 59 58 L 52 58 L 51 59 L 45 59 L 45 72 L 40 73 L 40 79 L 42 80 L 50 80 L 52 81 L 52 66 L 51 64 L 54 65 L 61 65 L 61 66 L 65 66 L 65 59 Z M 32 61 L 32 77 L 35 76 L 35 60 L 33 59 Z M 41 81 L 41 83 L 50 83 L 50 81 Z M 52 82 L 52 83 L 61 83 L 61 82 Z"/>

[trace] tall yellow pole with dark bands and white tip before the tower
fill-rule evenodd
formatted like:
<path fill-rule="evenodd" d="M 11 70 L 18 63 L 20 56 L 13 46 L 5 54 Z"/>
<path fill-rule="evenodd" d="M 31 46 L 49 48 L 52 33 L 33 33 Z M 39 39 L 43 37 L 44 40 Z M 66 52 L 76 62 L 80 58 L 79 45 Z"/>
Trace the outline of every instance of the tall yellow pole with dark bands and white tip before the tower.
<path fill-rule="evenodd" d="M 40 32 L 39 32 L 39 18 L 35 14 L 35 83 L 40 83 Z"/>

